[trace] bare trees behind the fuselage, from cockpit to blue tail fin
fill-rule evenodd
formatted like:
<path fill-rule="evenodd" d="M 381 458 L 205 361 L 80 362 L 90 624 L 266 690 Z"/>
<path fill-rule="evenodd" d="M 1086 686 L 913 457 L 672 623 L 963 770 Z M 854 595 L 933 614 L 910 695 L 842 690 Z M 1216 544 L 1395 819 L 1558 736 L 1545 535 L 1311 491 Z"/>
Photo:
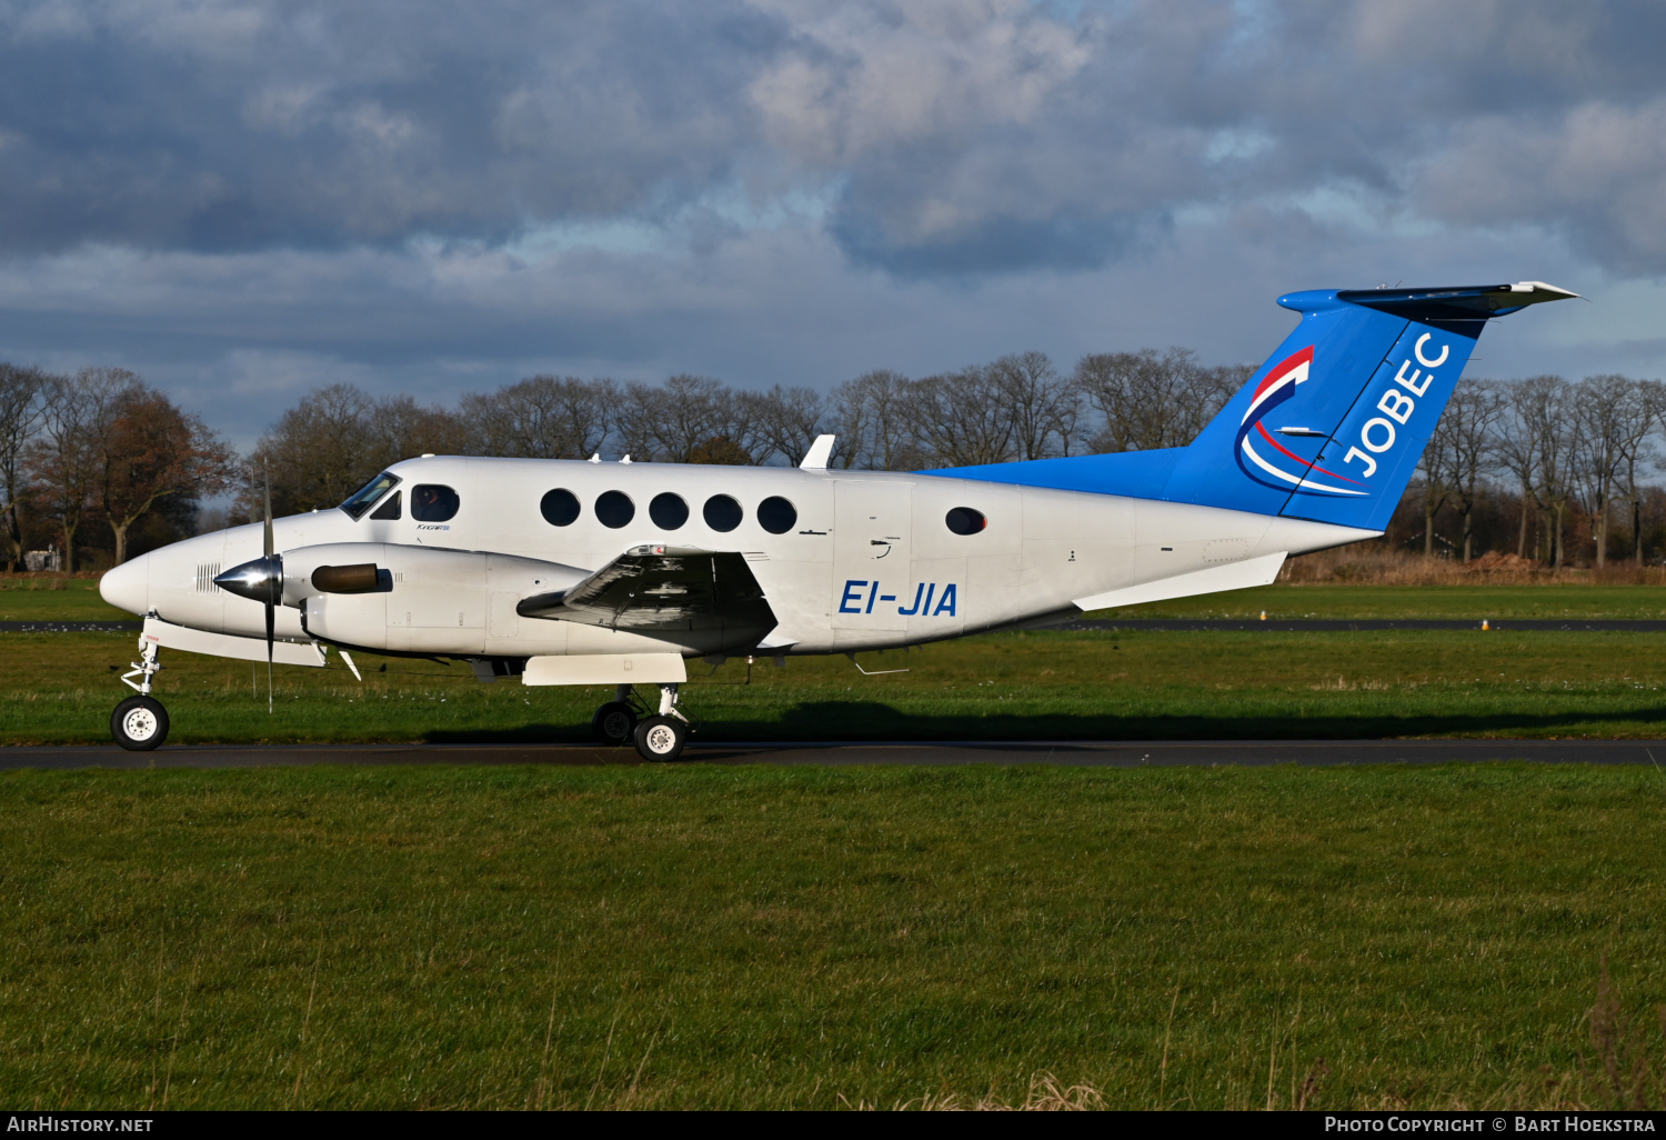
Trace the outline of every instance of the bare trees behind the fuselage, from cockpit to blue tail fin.
<path fill-rule="evenodd" d="M 695 375 L 658 385 L 541 375 L 463 395 L 455 408 L 332 385 L 285 412 L 255 460 L 287 510 L 335 505 L 421 453 L 791 465 L 831 433 L 836 468 L 971 467 L 1181 447 L 1251 372 L 1170 348 L 1083 357 L 1065 373 L 1026 352 L 918 380 L 881 368 L 826 393 Z"/>

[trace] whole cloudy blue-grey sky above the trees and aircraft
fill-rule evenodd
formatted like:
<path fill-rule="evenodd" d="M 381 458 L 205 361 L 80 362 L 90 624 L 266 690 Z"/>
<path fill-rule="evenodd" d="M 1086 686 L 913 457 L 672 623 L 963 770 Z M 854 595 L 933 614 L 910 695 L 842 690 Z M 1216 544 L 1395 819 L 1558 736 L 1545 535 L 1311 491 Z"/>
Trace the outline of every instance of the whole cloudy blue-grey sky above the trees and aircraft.
<path fill-rule="evenodd" d="M 1538 278 L 1471 375 L 1666 375 L 1658 0 L 0 0 L 0 358 L 240 443 L 350 380 L 1259 362 Z"/>

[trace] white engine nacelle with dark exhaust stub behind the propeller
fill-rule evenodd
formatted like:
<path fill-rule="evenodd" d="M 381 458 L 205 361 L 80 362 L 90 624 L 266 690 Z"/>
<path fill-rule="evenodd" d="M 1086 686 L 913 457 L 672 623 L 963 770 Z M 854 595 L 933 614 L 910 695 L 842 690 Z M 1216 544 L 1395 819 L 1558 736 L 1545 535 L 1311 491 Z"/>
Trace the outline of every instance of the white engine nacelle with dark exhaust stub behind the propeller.
<path fill-rule="evenodd" d="M 300 608 L 307 632 L 325 642 L 483 653 L 491 623 L 518 620 L 521 598 L 588 577 L 516 555 L 338 542 L 283 552 L 283 605 Z"/>

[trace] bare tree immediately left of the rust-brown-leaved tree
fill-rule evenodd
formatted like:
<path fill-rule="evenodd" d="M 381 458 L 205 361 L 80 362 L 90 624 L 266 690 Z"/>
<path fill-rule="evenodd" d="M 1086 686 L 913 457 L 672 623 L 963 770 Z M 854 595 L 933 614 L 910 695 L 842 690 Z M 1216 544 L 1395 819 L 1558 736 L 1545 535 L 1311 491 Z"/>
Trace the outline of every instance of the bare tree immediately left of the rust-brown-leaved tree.
<path fill-rule="evenodd" d="M 123 402 L 142 387 L 127 368 L 82 368 L 53 377 L 47 413 L 27 452 L 33 498 L 63 535 L 65 568 L 75 570 L 75 535 L 98 505 L 98 483 L 110 432 Z"/>

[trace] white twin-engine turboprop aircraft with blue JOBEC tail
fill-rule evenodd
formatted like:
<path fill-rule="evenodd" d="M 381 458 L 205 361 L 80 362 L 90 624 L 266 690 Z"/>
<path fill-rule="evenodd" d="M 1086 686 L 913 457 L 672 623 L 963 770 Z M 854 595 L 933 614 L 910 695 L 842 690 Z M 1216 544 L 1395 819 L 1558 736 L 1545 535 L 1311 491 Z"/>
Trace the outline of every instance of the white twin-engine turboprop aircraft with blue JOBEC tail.
<path fill-rule="evenodd" d="M 615 685 L 605 742 L 675 758 L 685 662 L 856 653 L 1266 585 L 1383 532 L 1483 325 L 1539 282 L 1306 292 L 1301 322 L 1190 447 L 938 472 L 425 455 L 338 508 L 188 538 L 103 577 L 145 615 L 112 732 L 155 748 L 158 650 L 483 682 Z M 137 680 L 135 680 L 137 678 Z M 638 685 L 660 690 L 656 707 Z"/>

